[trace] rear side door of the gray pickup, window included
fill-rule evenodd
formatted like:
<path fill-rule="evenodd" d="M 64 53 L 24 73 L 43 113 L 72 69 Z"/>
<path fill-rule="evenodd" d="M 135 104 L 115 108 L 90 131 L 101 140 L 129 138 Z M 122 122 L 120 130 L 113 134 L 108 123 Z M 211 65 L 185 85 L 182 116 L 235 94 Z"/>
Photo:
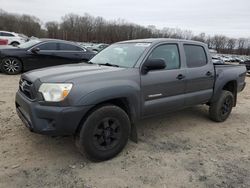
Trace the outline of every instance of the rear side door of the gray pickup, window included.
<path fill-rule="evenodd" d="M 185 106 L 206 103 L 212 97 L 214 65 L 202 45 L 183 44 L 187 66 Z"/>

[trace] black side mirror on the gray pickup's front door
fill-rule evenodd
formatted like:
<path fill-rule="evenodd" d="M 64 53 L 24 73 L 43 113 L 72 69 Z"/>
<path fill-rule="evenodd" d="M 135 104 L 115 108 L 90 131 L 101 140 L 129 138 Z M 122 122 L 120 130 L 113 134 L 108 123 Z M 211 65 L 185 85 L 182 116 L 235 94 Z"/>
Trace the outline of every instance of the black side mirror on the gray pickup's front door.
<path fill-rule="evenodd" d="M 160 70 L 165 68 L 166 62 L 164 59 L 148 59 L 142 67 L 142 73 L 147 74 L 151 70 Z"/>

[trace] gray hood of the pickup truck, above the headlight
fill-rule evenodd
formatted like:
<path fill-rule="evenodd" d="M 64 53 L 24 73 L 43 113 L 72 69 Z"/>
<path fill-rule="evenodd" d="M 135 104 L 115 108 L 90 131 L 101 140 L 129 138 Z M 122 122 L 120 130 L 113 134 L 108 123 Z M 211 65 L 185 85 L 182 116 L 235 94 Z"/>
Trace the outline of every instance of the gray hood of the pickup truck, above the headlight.
<path fill-rule="evenodd" d="M 109 74 L 110 72 L 122 71 L 125 68 L 90 65 L 78 63 L 70 65 L 55 66 L 50 68 L 37 69 L 22 75 L 22 78 L 31 82 L 73 82 L 74 80 L 86 80 L 87 77 L 99 74 Z"/>

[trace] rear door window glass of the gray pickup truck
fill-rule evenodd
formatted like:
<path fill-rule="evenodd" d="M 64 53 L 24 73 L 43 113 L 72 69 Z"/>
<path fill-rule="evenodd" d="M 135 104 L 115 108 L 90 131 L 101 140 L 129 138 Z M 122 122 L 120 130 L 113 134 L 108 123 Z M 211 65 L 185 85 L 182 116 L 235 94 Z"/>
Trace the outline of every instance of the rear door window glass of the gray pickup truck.
<path fill-rule="evenodd" d="M 207 64 L 207 56 L 202 46 L 184 44 L 184 51 L 189 68 L 202 67 Z"/>

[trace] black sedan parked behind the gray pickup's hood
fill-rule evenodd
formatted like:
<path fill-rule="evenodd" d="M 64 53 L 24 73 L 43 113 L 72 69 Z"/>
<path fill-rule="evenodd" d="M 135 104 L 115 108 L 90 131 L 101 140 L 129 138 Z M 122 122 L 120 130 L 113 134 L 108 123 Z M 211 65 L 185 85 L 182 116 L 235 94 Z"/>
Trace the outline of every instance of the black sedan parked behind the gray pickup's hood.
<path fill-rule="evenodd" d="M 18 47 L 0 49 L 0 68 L 6 74 L 19 74 L 33 69 L 89 61 L 94 52 L 73 42 L 35 39 Z"/>

